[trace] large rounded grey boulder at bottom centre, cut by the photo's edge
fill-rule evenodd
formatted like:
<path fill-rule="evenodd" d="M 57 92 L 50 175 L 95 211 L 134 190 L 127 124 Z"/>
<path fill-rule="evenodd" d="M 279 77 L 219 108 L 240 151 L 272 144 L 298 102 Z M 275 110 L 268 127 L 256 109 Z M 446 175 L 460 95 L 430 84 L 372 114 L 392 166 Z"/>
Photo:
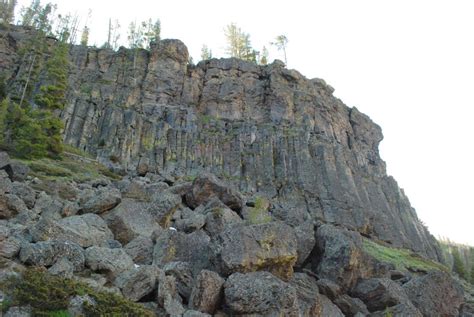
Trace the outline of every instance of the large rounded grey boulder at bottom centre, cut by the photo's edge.
<path fill-rule="evenodd" d="M 231 315 L 299 315 L 296 289 L 265 271 L 232 274 L 224 283 L 224 298 Z"/>

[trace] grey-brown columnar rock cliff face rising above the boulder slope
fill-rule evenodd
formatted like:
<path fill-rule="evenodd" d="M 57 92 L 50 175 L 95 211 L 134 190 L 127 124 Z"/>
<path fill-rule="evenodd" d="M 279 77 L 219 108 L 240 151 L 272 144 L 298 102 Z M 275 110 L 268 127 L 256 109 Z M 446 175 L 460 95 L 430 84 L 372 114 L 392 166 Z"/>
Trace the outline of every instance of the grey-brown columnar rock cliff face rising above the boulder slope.
<path fill-rule="evenodd" d="M 0 32 L 10 83 L 27 35 L 19 28 Z M 274 197 L 275 209 L 304 210 L 439 258 L 435 240 L 386 174 L 381 129 L 323 80 L 278 61 L 187 61 L 178 40 L 151 51 L 72 47 L 61 113 L 65 142 L 140 175 L 208 170 L 244 194 Z"/>

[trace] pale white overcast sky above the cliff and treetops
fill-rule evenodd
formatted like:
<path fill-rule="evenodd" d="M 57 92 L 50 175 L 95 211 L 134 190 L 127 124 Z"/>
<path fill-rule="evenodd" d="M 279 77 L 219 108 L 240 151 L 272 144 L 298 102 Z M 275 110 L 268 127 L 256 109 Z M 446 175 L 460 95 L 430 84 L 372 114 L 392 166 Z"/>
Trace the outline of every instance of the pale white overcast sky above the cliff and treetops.
<path fill-rule="evenodd" d="M 225 57 L 231 22 L 270 61 L 283 56 L 269 42 L 286 35 L 289 68 L 323 78 L 382 127 L 388 173 L 430 231 L 474 246 L 474 1 L 51 2 L 83 22 L 92 9 L 90 44 L 104 43 L 109 18 L 120 21 L 123 44 L 130 22 L 159 18 L 162 38 L 182 40 L 194 61 L 203 44 Z"/>

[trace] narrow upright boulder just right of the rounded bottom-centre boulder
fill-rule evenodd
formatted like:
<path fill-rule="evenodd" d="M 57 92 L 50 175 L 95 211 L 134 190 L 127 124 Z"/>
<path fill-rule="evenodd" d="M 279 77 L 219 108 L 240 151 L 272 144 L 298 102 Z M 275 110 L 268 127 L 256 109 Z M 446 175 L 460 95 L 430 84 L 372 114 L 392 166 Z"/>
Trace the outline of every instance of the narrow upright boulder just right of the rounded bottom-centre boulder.
<path fill-rule="evenodd" d="M 289 283 L 296 289 L 300 316 L 322 316 L 316 279 L 305 273 L 295 273 Z"/>

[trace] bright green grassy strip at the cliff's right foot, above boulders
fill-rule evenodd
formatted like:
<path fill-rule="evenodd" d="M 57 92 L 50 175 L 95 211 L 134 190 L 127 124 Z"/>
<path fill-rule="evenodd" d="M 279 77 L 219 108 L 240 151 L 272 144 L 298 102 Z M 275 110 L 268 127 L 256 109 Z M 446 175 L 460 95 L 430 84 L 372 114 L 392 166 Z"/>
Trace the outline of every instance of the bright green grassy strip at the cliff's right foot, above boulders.
<path fill-rule="evenodd" d="M 438 270 L 449 272 L 449 269 L 446 266 L 438 262 L 425 259 L 413 251 L 390 248 L 369 239 L 364 239 L 363 249 L 368 255 L 379 261 L 392 263 L 395 265 L 397 270 Z"/>

